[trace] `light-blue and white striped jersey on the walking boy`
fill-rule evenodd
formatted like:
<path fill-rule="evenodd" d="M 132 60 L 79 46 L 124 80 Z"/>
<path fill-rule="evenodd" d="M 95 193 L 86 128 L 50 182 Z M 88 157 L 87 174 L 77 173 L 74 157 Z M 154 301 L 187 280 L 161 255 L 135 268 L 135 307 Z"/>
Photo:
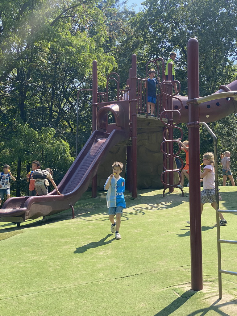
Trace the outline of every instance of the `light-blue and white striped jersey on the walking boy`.
<path fill-rule="evenodd" d="M 105 186 L 107 182 L 109 181 L 109 178 L 106 180 Z M 121 206 L 122 208 L 126 208 L 126 203 L 124 199 L 124 190 L 125 190 L 125 179 L 121 178 L 119 176 L 118 179 L 113 178 L 111 179 L 110 186 L 107 191 L 106 195 L 106 201 L 107 201 L 107 207 L 116 207 L 116 206 Z"/>

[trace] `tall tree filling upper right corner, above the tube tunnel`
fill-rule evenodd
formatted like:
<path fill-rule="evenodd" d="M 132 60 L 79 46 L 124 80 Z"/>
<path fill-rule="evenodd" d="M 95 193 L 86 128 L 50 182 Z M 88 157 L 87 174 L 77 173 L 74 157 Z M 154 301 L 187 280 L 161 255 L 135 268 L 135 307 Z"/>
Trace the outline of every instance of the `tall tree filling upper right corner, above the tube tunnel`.
<path fill-rule="evenodd" d="M 236 78 L 236 0 L 144 1 L 144 12 L 133 21 L 141 46 L 150 58 L 167 60 L 173 50 L 176 78 L 187 93 L 187 41 L 199 41 L 200 95 L 218 90 Z M 141 48 L 140 48 L 141 49 Z"/>

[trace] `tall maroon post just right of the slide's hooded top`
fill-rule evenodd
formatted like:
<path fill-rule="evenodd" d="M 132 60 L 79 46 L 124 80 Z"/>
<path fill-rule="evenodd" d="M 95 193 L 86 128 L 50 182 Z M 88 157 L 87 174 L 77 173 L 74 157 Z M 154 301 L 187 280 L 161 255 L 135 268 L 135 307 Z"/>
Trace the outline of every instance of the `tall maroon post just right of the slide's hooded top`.
<path fill-rule="evenodd" d="M 132 197 L 137 197 L 137 56 L 132 55 L 130 109 L 132 119 Z"/>

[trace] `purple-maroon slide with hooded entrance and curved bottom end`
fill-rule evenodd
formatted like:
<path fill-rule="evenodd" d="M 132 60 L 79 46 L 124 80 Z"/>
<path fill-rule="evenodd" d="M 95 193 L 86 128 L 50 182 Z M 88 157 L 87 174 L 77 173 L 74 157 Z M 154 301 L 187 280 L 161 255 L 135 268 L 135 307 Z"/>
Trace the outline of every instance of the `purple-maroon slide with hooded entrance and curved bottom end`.
<path fill-rule="evenodd" d="M 0 222 L 14 222 L 19 226 L 20 222 L 27 219 L 49 216 L 67 210 L 78 201 L 96 175 L 100 162 L 106 157 L 109 149 L 128 138 L 129 115 L 123 106 L 129 108 L 129 101 L 118 103 L 120 104 L 106 104 L 98 111 L 99 130 L 92 133 L 58 185 L 58 190 L 63 196 L 57 195 L 53 190 L 43 196 L 11 197 L 0 209 Z M 106 133 L 106 113 L 109 111 L 114 114 L 116 125 L 119 126 L 117 129 L 115 126 L 110 134 Z"/>

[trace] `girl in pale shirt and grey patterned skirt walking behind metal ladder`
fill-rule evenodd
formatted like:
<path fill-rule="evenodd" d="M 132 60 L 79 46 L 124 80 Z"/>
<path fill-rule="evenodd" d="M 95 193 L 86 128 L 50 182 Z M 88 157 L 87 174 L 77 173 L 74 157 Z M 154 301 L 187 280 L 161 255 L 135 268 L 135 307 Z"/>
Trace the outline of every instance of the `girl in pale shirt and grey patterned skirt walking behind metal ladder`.
<path fill-rule="evenodd" d="M 218 204 L 216 202 L 216 185 L 215 185 L 215 168 L 214 168 L 214 155 L 212 153 L 206 153 L 203 155 L 203 163 L 205 165 L 203 172 L 200 170 L 200 178 L 203 179 L 203 191 L 201 191 L 201 214 L 203 212 L 203 205 L 205 203 L 211 203 L 211 206 L 218 210 Z M 222 197 L 219 195 L 219 201 Z M 227 225 L 227 221 L 224 219 L 222 213 L 220 216 L 220 226 Z M 215 224 L 216 226 L 216 224 Z"/>

